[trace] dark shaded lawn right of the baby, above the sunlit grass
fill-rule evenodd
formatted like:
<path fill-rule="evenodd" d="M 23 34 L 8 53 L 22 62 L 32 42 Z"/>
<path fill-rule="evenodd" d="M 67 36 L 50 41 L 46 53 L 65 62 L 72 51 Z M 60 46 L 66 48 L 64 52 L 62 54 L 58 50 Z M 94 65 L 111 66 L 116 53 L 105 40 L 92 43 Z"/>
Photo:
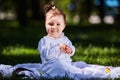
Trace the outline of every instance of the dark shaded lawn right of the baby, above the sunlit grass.
<path fill-rule="evenodd" d="M 65 33 L 73 44 L 120 48 L 119 25 L 67 26 Z"/>

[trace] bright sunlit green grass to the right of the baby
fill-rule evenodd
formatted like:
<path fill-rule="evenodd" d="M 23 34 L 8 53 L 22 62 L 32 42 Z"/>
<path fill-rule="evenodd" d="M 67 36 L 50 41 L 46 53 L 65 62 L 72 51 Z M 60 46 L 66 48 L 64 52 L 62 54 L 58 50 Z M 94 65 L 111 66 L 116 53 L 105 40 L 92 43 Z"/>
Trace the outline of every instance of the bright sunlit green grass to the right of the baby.
<path fill-rule="evenodd" d="M 119 66 L 120 50 L 115 47 L 98 47 L 89 45 L 88 47 L 77 46 L 74 61 L 85 61 L 90 64 L 102 64 Z"/>

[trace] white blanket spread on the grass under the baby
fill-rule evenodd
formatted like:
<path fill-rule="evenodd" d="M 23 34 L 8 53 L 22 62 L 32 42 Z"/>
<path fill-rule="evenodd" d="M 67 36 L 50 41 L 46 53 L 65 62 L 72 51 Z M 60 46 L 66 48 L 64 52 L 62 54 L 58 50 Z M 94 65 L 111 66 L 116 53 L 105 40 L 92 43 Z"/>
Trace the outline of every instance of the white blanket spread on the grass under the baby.
<path fill-rule="evenodd" d="M 52 62 L 51 62 L 52 64 Z M 84 64 L 83 64 L 84 65 Z M 79 79 L 90 79 L 90 78 L 106 78 L 106 79 L 115 79 L 120 78 L 120 67 L 111 67 L 111 66 L 101 66 L 101 65 L 92 65 L 84 66 L 82 69 L 76 69 L 76 72 L 67 66 L 61 66 L 59 64 L 50 65 L 47 67 L 47 64 L 40 63 L 24 63 L 17 64 L 15 66 L 0 64 L 0 74 L 3 77 L 11 77 L 14 74 L 24 75 L 30 79 L 40 79 L 41 77 L 63 77 L 68 76 L 75 80 Z M 65 68 L 66 67 L 66 68 Z M 78 69 L 78 70 L 77 70 Z"/>

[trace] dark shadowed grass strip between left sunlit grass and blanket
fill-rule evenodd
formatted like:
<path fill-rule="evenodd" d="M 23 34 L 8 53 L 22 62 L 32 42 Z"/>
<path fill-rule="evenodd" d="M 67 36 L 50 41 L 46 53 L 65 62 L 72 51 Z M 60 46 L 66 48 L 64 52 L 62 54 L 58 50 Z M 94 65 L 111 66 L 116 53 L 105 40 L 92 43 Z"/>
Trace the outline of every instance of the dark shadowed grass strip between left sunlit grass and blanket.
<path fill-rule="evenodd" d="M 39 55 L 0 55 L 0 64 L 16 65 L 21 63 L 41 63 Z"/>

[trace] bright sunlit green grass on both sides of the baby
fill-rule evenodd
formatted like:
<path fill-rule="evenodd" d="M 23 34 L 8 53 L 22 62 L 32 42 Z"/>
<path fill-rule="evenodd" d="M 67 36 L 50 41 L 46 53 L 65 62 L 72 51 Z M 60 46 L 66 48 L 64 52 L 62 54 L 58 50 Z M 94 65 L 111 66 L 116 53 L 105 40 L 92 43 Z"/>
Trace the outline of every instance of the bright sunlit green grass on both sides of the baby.
<path fill-rule="evenodd" d="M 87 47 L 76 46 L 75 55 L 72 57 L 73 61 L 85 61 L 90 64 L 102 64 L 110 66 L 119 66 L 120 50 L 115 47 L 98 47 L 89 45 Z M 38 56 L 37 49 L 28 48 L 23 45 L 8 46 L 2 51 L 2 55 L 5 56 Z M 27 58 L 26 58 L 27 60 Z M 35 60 L 35 59 L 33 59 Z M 20 61 L 20 60 L 19 60 Z M 37 61 L 33 61 L 37 62 Z"/>

